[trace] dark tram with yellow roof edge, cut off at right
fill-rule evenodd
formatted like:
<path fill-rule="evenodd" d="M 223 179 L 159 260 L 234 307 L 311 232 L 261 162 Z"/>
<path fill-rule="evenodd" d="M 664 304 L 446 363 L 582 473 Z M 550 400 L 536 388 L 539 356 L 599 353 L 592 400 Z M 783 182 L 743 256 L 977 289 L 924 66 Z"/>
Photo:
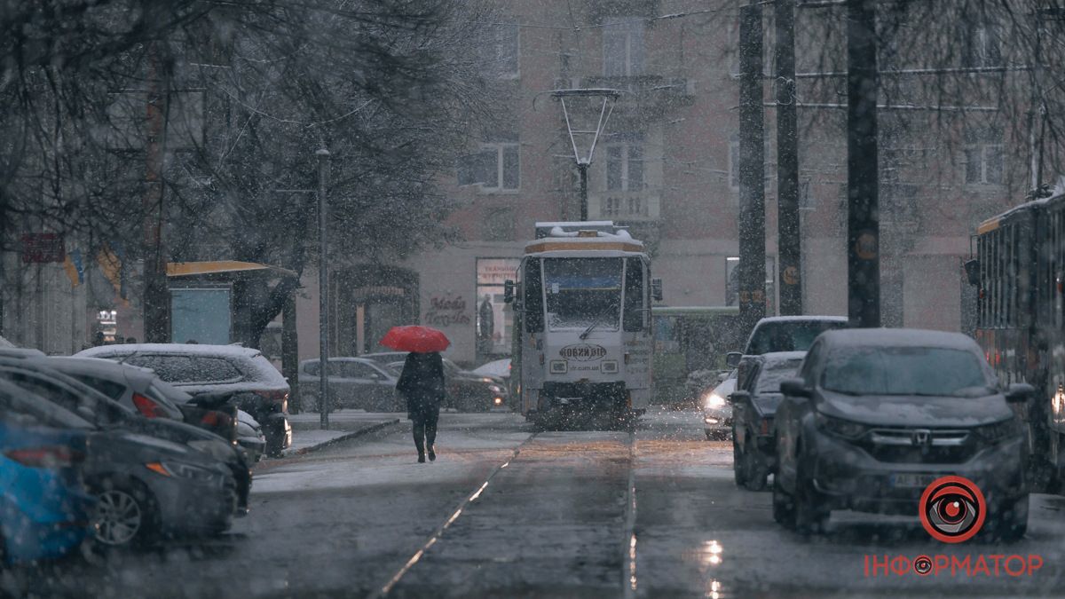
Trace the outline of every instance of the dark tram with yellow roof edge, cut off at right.
<path fill-rule="evenodd" d="M 977 341 L 1005 386 L 1035 394 L 1028 428 L 1033 490 L 1065 480 L 1065 195 L 1022 204 L 981 223 L 965 264 L 977 291 Z"/>

